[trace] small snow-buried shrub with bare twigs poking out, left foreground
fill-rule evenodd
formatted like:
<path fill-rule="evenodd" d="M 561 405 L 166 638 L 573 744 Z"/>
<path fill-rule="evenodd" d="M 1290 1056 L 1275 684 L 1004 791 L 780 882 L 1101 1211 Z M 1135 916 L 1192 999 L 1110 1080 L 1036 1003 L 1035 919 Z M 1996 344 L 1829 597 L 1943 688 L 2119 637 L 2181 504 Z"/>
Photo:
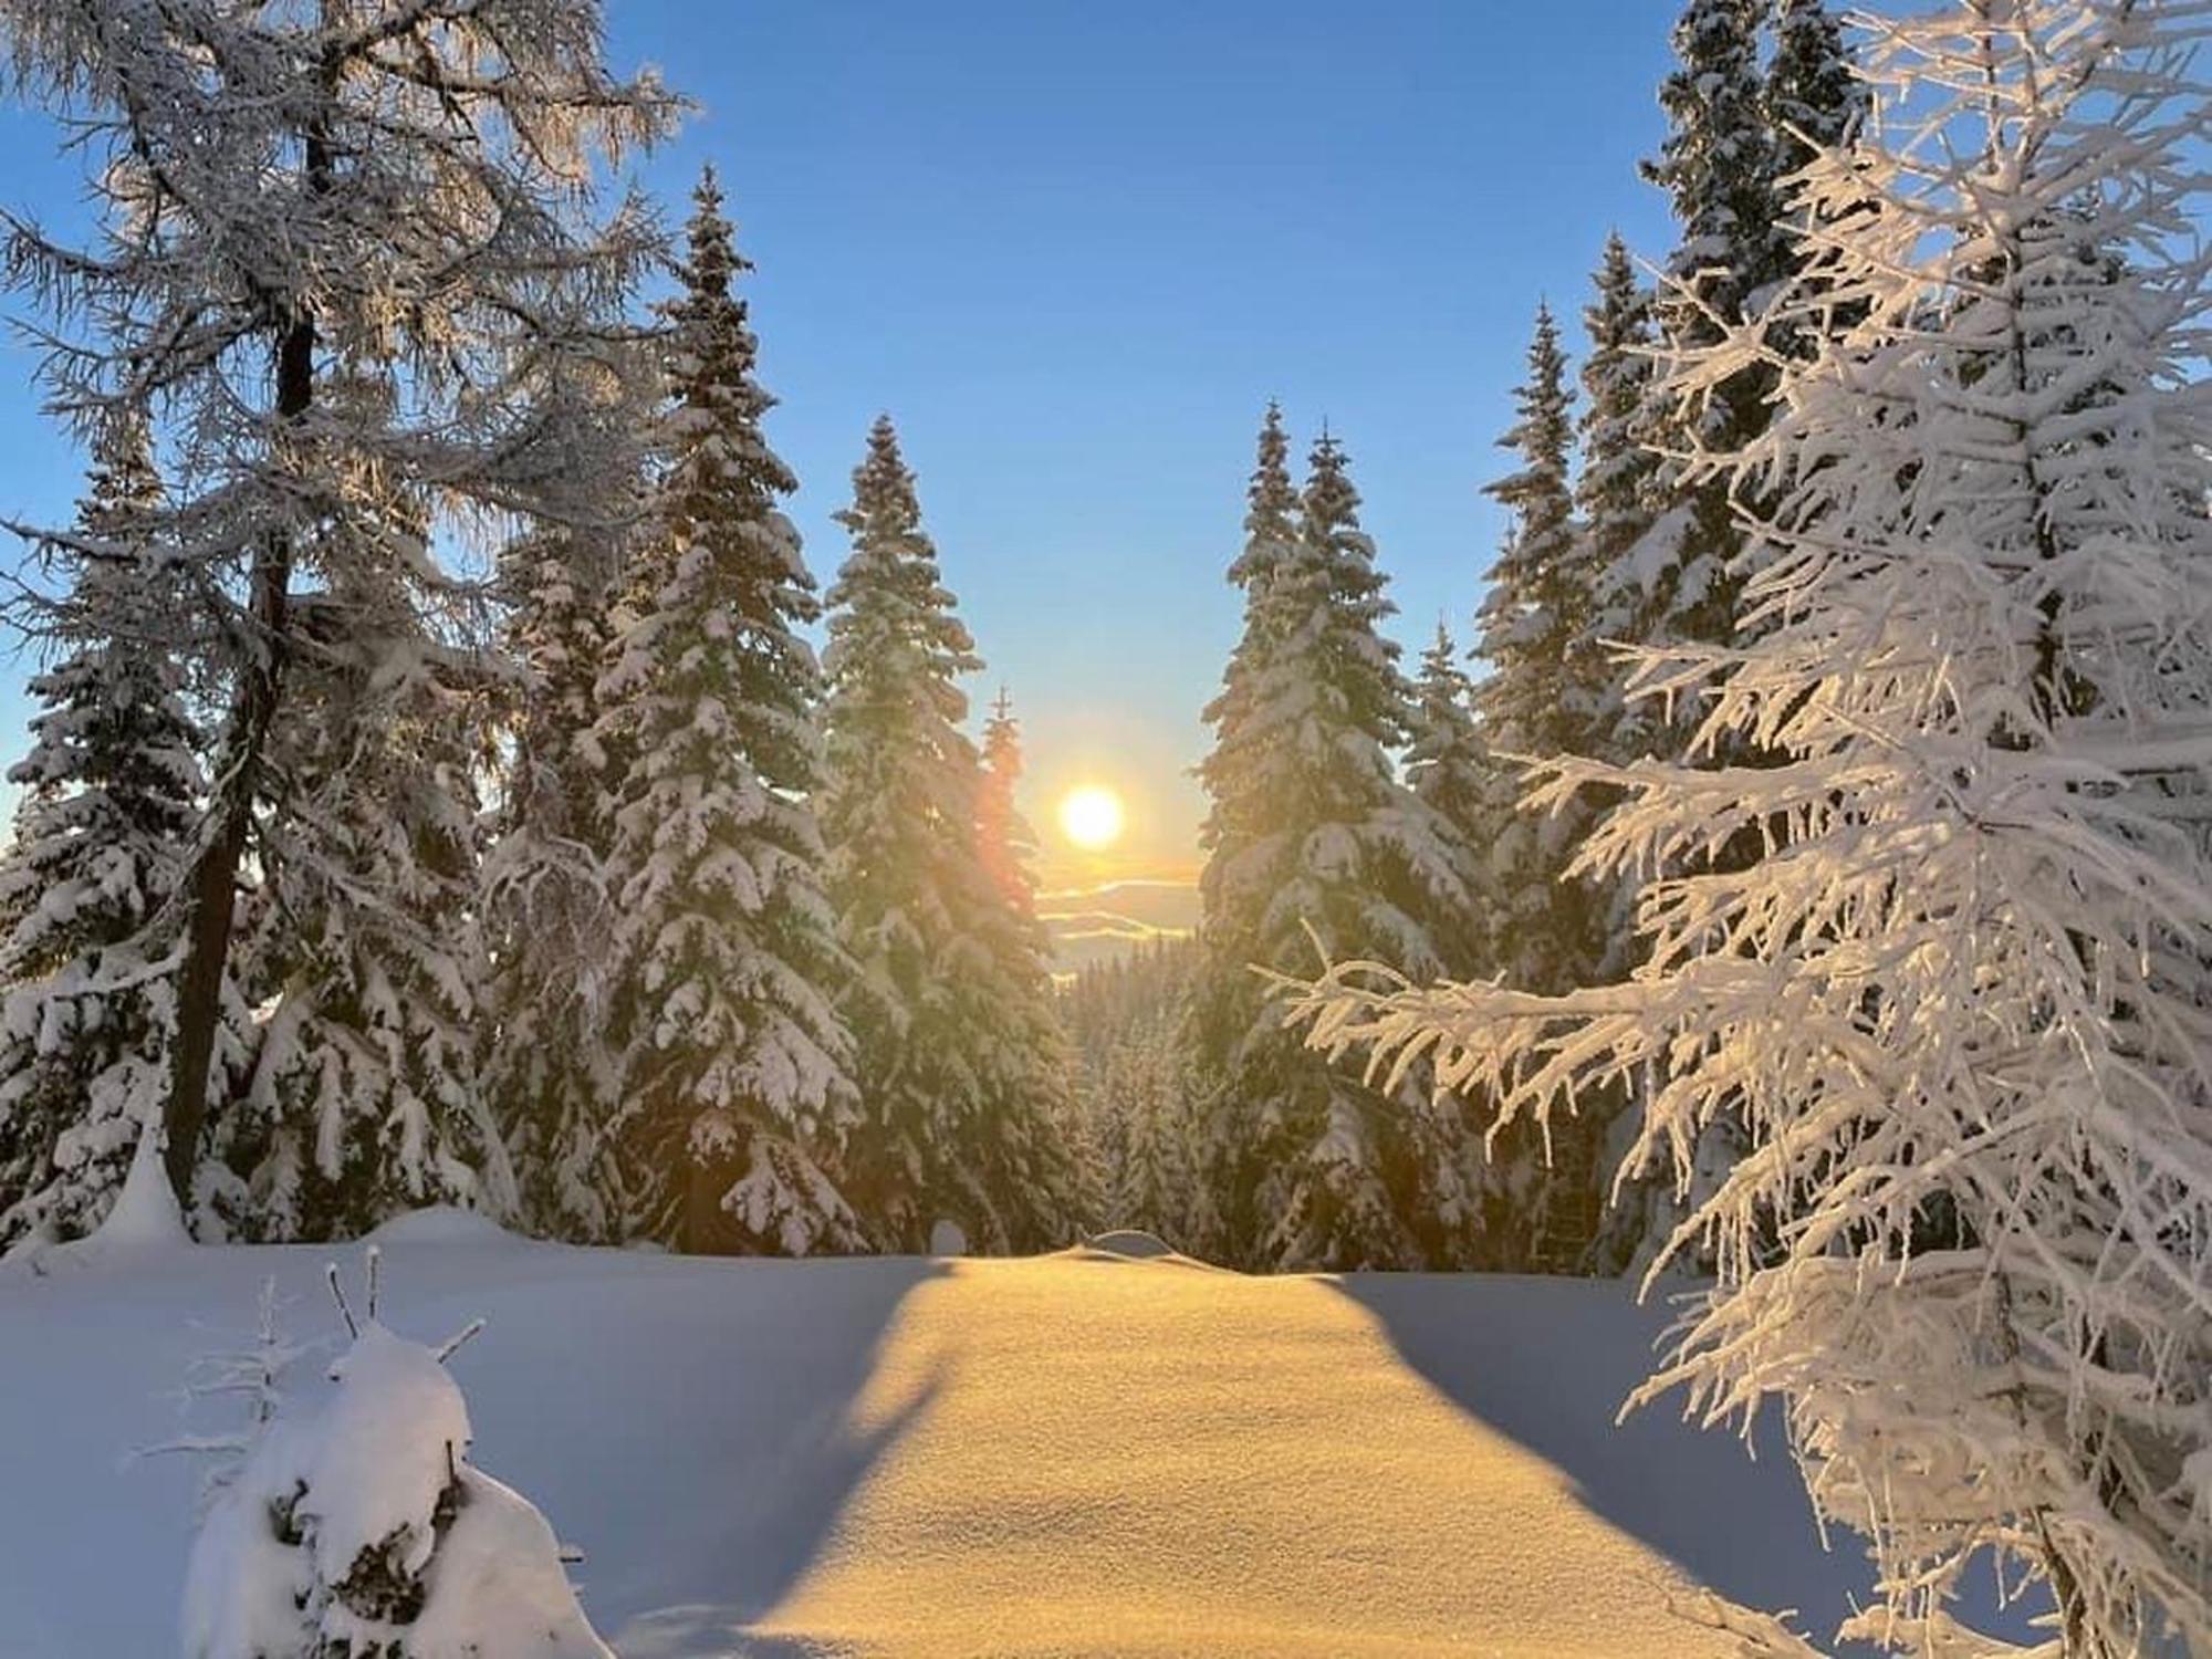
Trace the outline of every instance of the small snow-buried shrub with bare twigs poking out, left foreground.
<path fill-rule="evenodd" d="M 276 1389 L 292 1349 L 263 1336 L 217 1363 L 250 1398 L 223 1453 L 184 1586 L 188 1659 L 608 1659 L 577 1608 L 553 1531 L 520 1493 L 469 1467 L 469 1409 L 445 1360 L 476 1334 L 427 1347 L 376 1321 L 319 1407 Z M 237 1462 L 243 1453 L 243 1462 Z"/>

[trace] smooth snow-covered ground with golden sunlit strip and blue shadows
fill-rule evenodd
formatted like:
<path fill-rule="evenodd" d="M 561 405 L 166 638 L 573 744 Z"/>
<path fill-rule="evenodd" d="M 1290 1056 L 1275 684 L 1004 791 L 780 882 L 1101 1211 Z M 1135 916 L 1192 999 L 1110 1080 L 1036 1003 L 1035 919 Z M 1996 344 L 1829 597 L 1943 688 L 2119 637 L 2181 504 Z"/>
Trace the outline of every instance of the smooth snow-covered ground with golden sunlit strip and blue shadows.
<path fill-rule="evenodd" d="M 1615 1283 L 383 1243 L 396 1332 L 489 1316 L 453 1358 L 476 1462 L 584 1551 L 624 1659 L 1670 1659 L 1741 1652 L 1694 1586 L 1825 1639 L 1865 1582 L 1778 1444 L 1613 1427 L 1666 1323 Z M 179 1385 L 265 1276 L 334 1336 L 358 1254 L 0 1267 L 0 1655 L 175 1652 L 197 1471 L 128 1453 L 221 1427 Z"/>

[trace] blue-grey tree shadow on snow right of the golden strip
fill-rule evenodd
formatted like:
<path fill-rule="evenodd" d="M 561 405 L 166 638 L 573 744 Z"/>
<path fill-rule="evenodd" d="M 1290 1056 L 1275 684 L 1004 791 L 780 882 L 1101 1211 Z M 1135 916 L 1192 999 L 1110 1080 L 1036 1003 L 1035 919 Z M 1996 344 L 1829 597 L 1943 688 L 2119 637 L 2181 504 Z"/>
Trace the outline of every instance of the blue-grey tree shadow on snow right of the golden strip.
<path fill-rule="evenodd" d="M 1820 1546 L 1772 1411 L 1761 1413 L 1750 1453 L 1732 1429 L 1683 1422 L 1674 1398 L 1615 1427 L 1670 1323 L 1666 1305 L 1635 1307 L 1632 1285 L 1352 1274 L 1336 1287 L 1383 1323 L 1438 1394 L 1559 1469 L 1590 1513 L 1730 1601 L 1794 1608 L 1796 1628 L 1827 1650 L 1854 1604 L 1869 1599 L 1860 1540 L 1832 1528 L 1834 1551 Z M 2022 1608 L 1995 1610 L 1989 1573 L 1971 1575 L 1955 1613 L 1993 1635 L 2028 1637 Z"/>

